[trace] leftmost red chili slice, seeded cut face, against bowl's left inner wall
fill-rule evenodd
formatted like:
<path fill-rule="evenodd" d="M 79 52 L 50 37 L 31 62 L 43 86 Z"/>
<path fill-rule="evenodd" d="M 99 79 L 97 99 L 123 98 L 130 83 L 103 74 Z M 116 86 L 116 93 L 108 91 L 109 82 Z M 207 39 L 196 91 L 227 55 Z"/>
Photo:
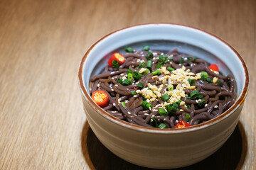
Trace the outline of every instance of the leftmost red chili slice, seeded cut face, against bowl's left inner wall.
<path fill-rule="evenodd" d="M 104 108 L 105 106 L 108 105 L 110 99 L 107 96 L 107 93 L 102 90 L 97 90 L 92 93 L 92 100 L 97 103 L 98 106 L 101 108 Z"/>

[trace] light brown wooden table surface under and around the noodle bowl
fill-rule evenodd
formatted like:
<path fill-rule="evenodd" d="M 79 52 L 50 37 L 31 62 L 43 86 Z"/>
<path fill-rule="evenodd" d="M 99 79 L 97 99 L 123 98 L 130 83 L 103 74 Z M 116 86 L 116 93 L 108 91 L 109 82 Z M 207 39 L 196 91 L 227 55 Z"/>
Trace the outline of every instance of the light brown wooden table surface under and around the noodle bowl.
<path fill-rule="evenodd" d="M 256 169 L 256 1 L 0 1 L 0 169 L 146 169 L 114 156 L 82 109 L 78 66 L 103 35 L 139 23 L 201 28 L 247 63 L 250 93 L 228 142 L 183 169 Z"/>

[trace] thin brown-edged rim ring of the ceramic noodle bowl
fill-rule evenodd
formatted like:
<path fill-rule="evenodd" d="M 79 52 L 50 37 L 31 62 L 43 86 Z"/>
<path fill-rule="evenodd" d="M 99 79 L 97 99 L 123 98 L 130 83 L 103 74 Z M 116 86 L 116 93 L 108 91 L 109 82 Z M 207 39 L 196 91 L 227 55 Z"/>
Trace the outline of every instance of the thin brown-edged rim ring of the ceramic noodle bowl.
<path fill-rule="evenodd" d="M 87 55 L 90 54 L 90 51 L 93 49 L 93 47 L 95 47 L 95 45 L 97 45 L 100 41 L 104 40 L 105 38 L 107 38 L 108 36 L 110 36 L 114 33 L 117 33 L 117 32 L 122 31 L 122 30 L 129 29 L 129 28 L 134 28 L 134 27 L 139 27 L 139 26 L 149 26 L 149 25 L 155 25 L 155 26 L 157 26 L 157 25 L 169 25 L 169 26 L 180 26 L 180 27 L 184 27 L 184 28 L 191 28 L 193 30 L 198 30 L 198 31 L 206 33 L 206 34 L 208 34 L 208 35 L 210 35 L 214 38 L 217 38 L 218 40 L 223 42 L 225 45 L 230 47 L 230 49 L 233 50 L 233 52 L 235 52 L 236 56 L 239 58 L 240 62 L 242 63 L 242 67 L 244 68 L 244 72 L 245 72 L 245 86 L 242 89 L 242 93 L 241 93 L 240 97 L 237 98 L 237 100 L 235 101 L 233 106 L 228 108 L 227 111 L 225 111 L 224 113 L 222 113 L 218 117 L 213 118 L 211 120 L 208 120 L 205 123 L 200 123 L 198 125 L 193 125 L 191 127 L 181 128 L 181 129 L 176 129 L 176 128 L 157 129 L 157 128 L 148 128 L 148 127 L 144 127 L 144 126 L 141 126 L 141 125 L 134 125 L 134 124 L 128 123 L 124 120 L 120 120 L 118 118 L 115 118 L 114 116 L 110 115 L 109 113 L 104 111 L 102 108 L 100 108 L 100 106 L 97 106 L 97 104 L 94 101 L 92 101 L 92 98 L 90 97 L 90 94 L 87 93 L 87 91 L 85 89 L 85 84 L 82 81 L 82 76 L 83 76 L 82 70 L 83 70 L 84 62 L 87 58 Z M 242 59 L 242 57 L 240 56 L 240 54 L 231 45 L 229 45 L 228 42 L 225 42 L 221 38 L 218 38 L 216 35 L 213 35 L 212 33 L 208 33 L 205 30 L 194 28 L 192 26 L 176 24 L 176 23 L 143 23 L 143 24 L 137 24 L 137 25 L 134 25 L 134 26 L 128 26 L 128 27 L 125 27 L 125 28 L 121 28 L 119 30 L 114 30 L 112 33 L 109 33 L 109 34 L 105 35 L 104 37 L 100 38 L 100 40 L 97 40 L 97 42 L 95 42 L 87 50 L 84 57 L 82 57 L 82 60 L 80 62 L 80 67 L 79 67 L 79 70 L 78 70 L 78 81 L 79 81 L 79 85 L 80 85 L 80 91 L 82 92 L 82 96 L 85 97 L 85 101 L 87 101 L 87 103 L 89 103 L 90 106 L 92 106 L 92 108 L 95 109 L 95 111 L 97 111 L 97 113 L 102 115 L 104 118 L 107 118 L 108 120 L 112 121 L 113 123 L 117 123 L 118 125 L 121 125 L 124 128 L 129 128 L 129 129 L 132 129 L 132 130 L 139 130 L 139 131 L 143 131 L 143 132 L 161 133 L 161 134 L 180 133 L 180 132 L 183 133 L 183 132 L 191 132 L 191 131 L 194 131 L 194 130 L 200 130 L 200 129 L 206 128 L 210 125 L 214 125 L 215 123 L 218 123 L 221 120 L 224 120 L 225 118 L 228 118 L 228 116 L 230 114 L 232 114 L 235 110 L 237 110 L 239 108 L 239 106 L 241 106 L 242 103 L 245 101 L 245 97 L 247 96 L 247 92 L 248 92 L 248 89 L 249 89 L 249 73 L 248 73 L 248 70 L 247 70 L 247 66 L 246 66 L 244 60 Z"/>

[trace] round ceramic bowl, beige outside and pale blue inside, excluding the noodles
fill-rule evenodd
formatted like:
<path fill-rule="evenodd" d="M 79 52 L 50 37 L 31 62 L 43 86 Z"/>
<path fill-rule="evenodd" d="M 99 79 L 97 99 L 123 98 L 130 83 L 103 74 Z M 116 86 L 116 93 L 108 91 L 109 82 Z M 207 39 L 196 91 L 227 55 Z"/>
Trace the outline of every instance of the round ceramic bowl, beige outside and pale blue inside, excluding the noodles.
<path fill-rule="evenodd" d="M 144 45 L 159 51 L 178 47 L 179 52 L 218 64 L 222 72 L 235 77 L 235 103 L 217 118 L 183 129 L 145 128 L 103 111 L 90 97 L 90 77 L 100 73 L 113 52 Z M 105 35 L 85 53 L 78 78 L 87 121 L 100 142 L 127 162 L 157 169 L 195 164 L 217 151 L 235 129 L 249 87 L 245 62 L 227 42 L 203 30 L 171 23 L 130 26 Z"/>

